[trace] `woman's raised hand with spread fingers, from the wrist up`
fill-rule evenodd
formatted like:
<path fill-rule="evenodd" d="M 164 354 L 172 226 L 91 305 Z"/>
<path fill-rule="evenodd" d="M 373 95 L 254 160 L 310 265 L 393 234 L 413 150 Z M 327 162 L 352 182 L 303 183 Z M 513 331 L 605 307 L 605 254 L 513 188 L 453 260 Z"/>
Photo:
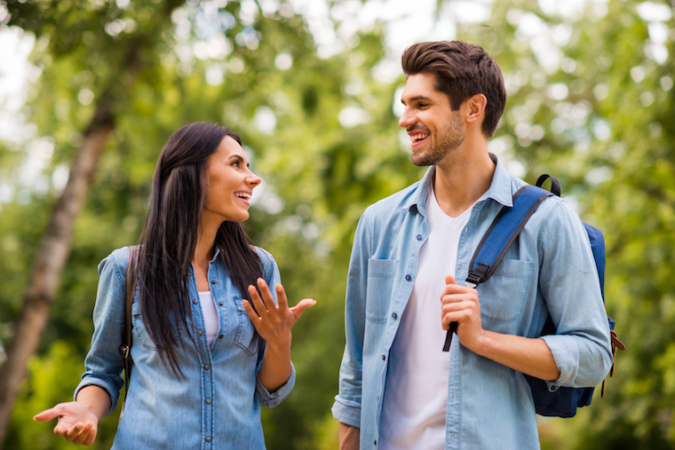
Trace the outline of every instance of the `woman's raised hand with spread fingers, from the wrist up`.
<path fill-rule="evenodd" d="M 298 304 L 289 308 L 286 292 L 281 284 L 276 285 L 276 297 L 279 305 L 274 304 L 274 297 L 267 283 L 262 278 L 258 278 L 258 288 L 262 298 L 258 295 L 258 290 L 253 285 L 249 286 L 250 299 L 255 306 L 255 311 L 248 300 L 244 300 L 243 305 L 246 313 L 249 315 L 253 326 L 258 330 L 258 335 L 266 340 L 267 345 L 274 349 L 290 349 L 290 328 L 293 328 L 296 320 L 300 319 L 305 310 L 316 304 L 311 298 L 300 300 Z"/>

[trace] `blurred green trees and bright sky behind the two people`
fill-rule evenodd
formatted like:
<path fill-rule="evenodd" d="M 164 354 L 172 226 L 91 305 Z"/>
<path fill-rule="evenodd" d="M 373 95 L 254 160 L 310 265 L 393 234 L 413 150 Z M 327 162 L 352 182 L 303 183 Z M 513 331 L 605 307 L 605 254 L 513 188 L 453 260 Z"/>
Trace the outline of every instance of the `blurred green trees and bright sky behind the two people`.
<path fill-rule="evenodd" d="M 479 43 L 509 100 L 489 143 L 556 175 L 607 239 L 628 351 L 607 394 L 540 419 L 544 449 L 675 448 L 675 21 L 667 0 L 0 1 L 0 447 L 73 448 L 33 414 L 70 399 L 96 266 L 135 243 L 159 151 L 197 120 L 241 134 L 263 178 L 248 221 L 295 304 L 295 391 L 271 450 L 333 449 L 344 294 L 363 209 L 408 186 L 401 52 Z M 93 448 L 109 448 L 115 416 Z"/>

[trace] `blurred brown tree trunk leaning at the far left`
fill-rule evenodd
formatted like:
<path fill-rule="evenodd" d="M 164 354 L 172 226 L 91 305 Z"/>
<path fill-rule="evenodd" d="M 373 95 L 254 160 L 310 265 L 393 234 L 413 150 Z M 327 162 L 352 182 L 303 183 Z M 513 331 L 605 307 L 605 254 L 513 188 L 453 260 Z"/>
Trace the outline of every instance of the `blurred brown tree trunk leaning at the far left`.
<path fill-rule="evenodd" d="M 0 449 L 9 428 L 12 408 L 26 375 L 28 359 L 36 352 L 50 316 L 60 273 L 66 264 L 75 218 L 83 209 L 91 178 L 114 129 L 112 99 L 101 97 L 70 168 L 66 188 L 56 204 L 38 249 L 16 334 L 0 368 Z"/>

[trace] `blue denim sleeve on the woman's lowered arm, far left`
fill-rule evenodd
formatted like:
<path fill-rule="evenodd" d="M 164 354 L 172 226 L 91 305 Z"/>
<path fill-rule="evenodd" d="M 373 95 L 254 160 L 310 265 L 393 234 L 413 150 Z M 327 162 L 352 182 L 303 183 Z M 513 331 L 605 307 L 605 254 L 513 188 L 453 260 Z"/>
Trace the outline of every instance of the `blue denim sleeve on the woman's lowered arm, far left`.
<path fill-rule="evenodd" d="M 112 413 L 124 385 L 124 359 L 119 351 L 122 343 L 125 301 L 125 271 L 128 248 L 115 250 L 99 264 L 99 287 L 93 312 L 94 332 L 91 349 L 84 359 L 85 372 L 75 388 L 77 393 L 85 386 L 96 385 L 107 391 Z"/>

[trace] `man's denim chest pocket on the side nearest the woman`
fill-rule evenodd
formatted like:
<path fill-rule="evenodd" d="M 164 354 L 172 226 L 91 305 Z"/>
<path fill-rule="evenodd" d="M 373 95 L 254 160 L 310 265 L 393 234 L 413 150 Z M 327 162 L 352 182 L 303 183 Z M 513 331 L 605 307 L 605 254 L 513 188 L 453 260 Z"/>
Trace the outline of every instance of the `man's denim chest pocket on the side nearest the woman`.
<path fill-rule="evenodd" d="M 398 264 L 396 259 L 368 260 L 366 319 L 370 322 L 386 323 Z"/>

